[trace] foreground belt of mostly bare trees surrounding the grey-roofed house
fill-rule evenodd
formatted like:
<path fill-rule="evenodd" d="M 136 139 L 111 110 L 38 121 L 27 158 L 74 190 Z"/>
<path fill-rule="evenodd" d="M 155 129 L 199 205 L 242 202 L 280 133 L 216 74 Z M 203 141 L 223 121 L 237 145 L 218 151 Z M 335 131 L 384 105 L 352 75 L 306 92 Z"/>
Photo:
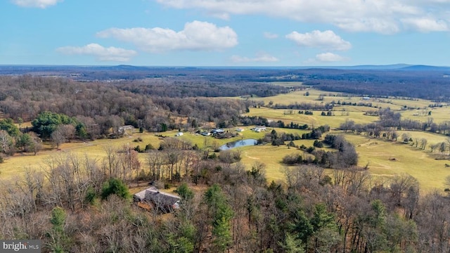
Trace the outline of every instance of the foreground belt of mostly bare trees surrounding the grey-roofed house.
<path fill-rule="evenodd" d="M 338 150 L 347 145 L 337 136 L 326 139 Z M 326 174 L 323 167 L 301 164 L 283 168 L 283 181 L 268 183 L 266 169 L 276 168 L 260 162 L 245 168 L 203 158 L 205 150 L 179 150 L 179 164 L 172 164 L 172 150 L 154 150 L 136 168 L 152 174 L 158 171 L 152 164 L 164 160 L 162 178 L 153 183 L 172 182 L 182 197 L 180 209 L 162 218 L 157 208 L 148 212 L 130 203 L 124 184 L 141 174 L 129 174 L 134 165 L 127 156 L 133 151 L 115 150 L 104 160 L 53 156 L 40 169 L 1 181 L 0 237 L 39 238 L 44 252 L 450 249 L 449 197 L 421 195 L 418 182 L 407 174 L 373 178 L 354 166 Z M 341 159 L 342 152 L 336 155 Z M 170 177 L 171 168 L 174 174 L 180 171 L 179 178 Z M 195 184 L 205 190 L 193 191 Z"/>

